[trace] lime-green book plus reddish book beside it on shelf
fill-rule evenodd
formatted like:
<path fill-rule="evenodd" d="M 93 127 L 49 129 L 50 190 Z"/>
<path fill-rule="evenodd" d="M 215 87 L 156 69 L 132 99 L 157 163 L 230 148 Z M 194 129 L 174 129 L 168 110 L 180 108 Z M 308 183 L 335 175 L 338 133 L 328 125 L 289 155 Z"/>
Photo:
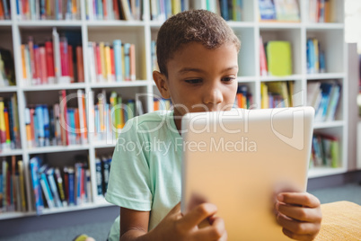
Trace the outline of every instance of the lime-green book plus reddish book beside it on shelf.
<path fill-rule="evenodd" d="M 290 75 L 292 75 L 291 43 L 272 40 L 263 44 L 260 36 L 260 76 Z"/>

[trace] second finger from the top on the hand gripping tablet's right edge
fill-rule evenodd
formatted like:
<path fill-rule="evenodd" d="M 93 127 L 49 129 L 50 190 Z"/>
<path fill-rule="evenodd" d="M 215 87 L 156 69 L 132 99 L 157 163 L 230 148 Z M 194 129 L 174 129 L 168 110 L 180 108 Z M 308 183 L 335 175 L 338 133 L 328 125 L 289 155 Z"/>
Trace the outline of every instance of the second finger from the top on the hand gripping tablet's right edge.
<path fill-rule="evenodd" d="M 307 222 L 321 222 L 321 210 L 304 207 L 296 207 L 277 203 L 277 210 L 289 218 Z"/>

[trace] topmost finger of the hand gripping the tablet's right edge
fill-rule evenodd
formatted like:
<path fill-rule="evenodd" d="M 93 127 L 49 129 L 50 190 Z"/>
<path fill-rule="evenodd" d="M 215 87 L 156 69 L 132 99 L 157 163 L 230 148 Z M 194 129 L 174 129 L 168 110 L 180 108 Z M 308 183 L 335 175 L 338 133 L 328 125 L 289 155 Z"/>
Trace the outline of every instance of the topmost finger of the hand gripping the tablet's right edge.
<path fill-rule="evenodd" d="M 309 208 L 320 206 L 320 201 L 307 192 L 281 192 L 278 193 L 277 200 L 287 204 L 301 205 Z"/>

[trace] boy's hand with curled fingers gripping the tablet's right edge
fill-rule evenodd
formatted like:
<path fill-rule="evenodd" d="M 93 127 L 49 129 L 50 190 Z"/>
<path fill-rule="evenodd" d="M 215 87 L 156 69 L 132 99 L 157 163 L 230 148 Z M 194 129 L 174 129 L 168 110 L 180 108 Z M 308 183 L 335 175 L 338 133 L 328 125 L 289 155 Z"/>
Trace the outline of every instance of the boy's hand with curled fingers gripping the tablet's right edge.
<path fill-rule="evenodd" d="M 287 237 L 313 240 L 321 228 L 320 201 L 307 192 L 281 192 L 277 195 L 277 222 Z"/>

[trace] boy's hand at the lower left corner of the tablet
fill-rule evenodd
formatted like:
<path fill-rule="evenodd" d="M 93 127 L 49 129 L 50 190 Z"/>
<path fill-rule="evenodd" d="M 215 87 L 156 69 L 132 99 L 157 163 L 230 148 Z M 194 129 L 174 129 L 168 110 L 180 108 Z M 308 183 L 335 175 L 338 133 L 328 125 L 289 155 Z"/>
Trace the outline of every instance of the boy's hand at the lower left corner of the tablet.
<path fill-rule="evenodd" d="M 214 216 L 216 211 L 214 204 L 206 202 L 183 216 L 181 203 L 178 203 L 151 231 L 154 240 L 226 240 L 225 222 Z M 198 228 L 198 224 L 204 219 L 208 219 L 210 225 L 206 228 Z"/>

